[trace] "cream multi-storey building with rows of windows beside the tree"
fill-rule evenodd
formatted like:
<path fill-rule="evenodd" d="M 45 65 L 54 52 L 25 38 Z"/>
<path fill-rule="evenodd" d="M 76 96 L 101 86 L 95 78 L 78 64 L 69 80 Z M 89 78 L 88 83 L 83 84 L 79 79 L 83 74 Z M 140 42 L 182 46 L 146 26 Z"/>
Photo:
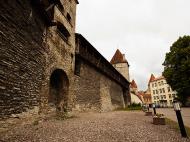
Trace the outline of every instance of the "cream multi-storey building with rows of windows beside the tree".
<path fill-rule="evenodd" d="M 148 88 L 152 98 L 152 103 L 160 107 L 173 106 L 176 92 L 171 89 L 163 76 L 156 78 L 153 74 L 150 77 Z"/>

